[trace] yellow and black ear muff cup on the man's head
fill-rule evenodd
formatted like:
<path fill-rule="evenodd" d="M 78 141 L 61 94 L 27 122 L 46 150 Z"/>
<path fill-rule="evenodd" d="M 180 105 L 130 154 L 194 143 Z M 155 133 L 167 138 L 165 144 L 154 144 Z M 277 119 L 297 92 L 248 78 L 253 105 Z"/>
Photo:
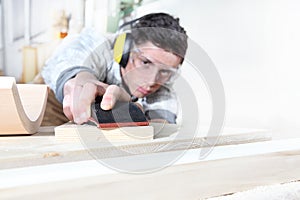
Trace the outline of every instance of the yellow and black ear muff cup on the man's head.
<path fill-rule="evenodd" d="M 130 33 L 121 33 L 114 42 L 114 60 L 121 67 L 125 68 L 128 63 L 132 44 L 133 37 Z"/>

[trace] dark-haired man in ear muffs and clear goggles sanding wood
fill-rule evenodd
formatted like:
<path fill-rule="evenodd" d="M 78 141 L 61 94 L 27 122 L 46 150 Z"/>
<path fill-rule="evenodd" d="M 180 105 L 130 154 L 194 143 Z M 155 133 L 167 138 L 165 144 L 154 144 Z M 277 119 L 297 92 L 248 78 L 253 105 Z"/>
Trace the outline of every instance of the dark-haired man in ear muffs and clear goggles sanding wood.
<path fill-rule="evenodd" d="M 112 109 L 116 101 L 138 99 L 149 120 L 176 123 L 172 83 L 186 53 L 186 32 L 178 19 L 165 13 L 145 15 L 129 25 L 126 37 L 132 44 L 124 55 L 114 55 L 118 34 L 105 38 L 87 29 L 64 41 L 47 61 L 42 76 L 69 120 L 87 122 L 91 103 L 103 96 L 104 110 Z"/>

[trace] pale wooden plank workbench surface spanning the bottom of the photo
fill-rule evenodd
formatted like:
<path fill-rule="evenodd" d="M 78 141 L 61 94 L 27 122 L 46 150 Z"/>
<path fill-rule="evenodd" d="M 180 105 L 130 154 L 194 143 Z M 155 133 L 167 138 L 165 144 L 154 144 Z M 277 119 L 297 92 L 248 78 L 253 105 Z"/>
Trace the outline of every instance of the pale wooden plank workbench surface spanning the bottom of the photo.
<path fill-rule="evenodd" d="M 95 158 L 82 143 L 57 142 L 53 127 L 0 137 L 0 199 L 203 199 L 300 179 L 300 139 L 272 141 L 266 132 L 247 129 L 224 129 L 213 148 L 205 139 L 166 149 L 158 148 L 166 147 L 162 137 L 127 144 L 135 152 L 130 156 Z M 155 148 L 141 153 L 147 145 Z M 170 157 L 176 159 L 161 162 Z"/>

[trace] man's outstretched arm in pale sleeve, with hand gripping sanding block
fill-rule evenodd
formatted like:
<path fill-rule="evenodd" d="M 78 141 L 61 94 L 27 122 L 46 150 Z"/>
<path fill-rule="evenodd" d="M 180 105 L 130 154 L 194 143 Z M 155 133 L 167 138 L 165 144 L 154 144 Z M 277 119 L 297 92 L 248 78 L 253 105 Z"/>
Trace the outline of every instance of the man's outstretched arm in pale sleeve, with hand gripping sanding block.
<path fill-rule="evenodd" d="M 87 122 L 91 115 L 90 105 L 97 95 L 104 95 L 103 109 L 111 109 L 117 99 L 130 100 L 123 89 L 101 82 L 112 61 L 110 41 L 93 29 L 87 29 L 64 41 L 46 63 L 43 78 L 63 104 L 69 120 L 78 124 Z"/>

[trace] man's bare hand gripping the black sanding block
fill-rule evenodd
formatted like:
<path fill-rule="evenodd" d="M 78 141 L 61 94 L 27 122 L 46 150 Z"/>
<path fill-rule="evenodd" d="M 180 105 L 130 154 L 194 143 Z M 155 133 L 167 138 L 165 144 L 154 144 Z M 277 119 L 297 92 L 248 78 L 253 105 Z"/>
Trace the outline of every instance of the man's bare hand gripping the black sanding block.
<path fill-rule="evenodd" d="M 89 72 L 80 72 L 64 85 L 64 114 L 76 124 L 87 122 L 91 116 L 91 104 L 96 96 L 102 95 L 103 110 L 112 109 L 117 100 L 130 101 L 130 95 L 124 89 L 102 83 Z"/>

